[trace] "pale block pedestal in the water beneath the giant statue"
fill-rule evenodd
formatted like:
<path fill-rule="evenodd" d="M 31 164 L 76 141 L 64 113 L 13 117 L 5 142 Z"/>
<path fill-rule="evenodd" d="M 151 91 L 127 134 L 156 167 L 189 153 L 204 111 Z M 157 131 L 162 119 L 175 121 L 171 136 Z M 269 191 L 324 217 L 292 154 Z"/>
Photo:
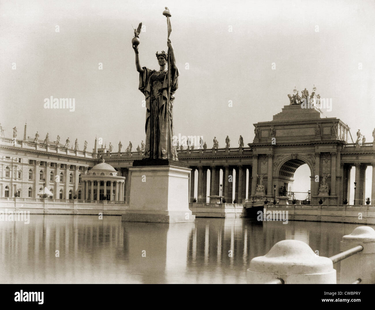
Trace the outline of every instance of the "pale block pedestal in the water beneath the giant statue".
<path fill-rule="evenodd" d="M 189 174 L 180 163 L 144 166 L 137 161 L 131 174 L 129 209 L 124 222 L 187 223 L 194 222 L 189 210 Z M 140 162 L 140 163 L 139 163 Z M 178 165 L 178 166 L 177 166 Z"/>

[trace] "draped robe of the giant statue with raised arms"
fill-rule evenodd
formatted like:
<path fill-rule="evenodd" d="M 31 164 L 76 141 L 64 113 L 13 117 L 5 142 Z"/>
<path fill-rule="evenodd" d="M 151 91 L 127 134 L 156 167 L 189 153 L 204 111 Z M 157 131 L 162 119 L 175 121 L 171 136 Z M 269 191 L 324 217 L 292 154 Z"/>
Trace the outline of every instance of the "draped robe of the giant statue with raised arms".
<path fill-rule="evenodd" d="M 167 151 L 169 151 L 169 159 L 178 160 L 176 147 L 172 145 L 173 102 L 174 93 L 178 88 L 178 69 L 171 67 L 169 111 L 166 111 L 167 71 L 150 70 L 146 67 L 142 69 L 143 73 L 139 73 L 139 90 L 145 95 L 146 100 L 146 141 L 143 159 L 167 159 Z"/>

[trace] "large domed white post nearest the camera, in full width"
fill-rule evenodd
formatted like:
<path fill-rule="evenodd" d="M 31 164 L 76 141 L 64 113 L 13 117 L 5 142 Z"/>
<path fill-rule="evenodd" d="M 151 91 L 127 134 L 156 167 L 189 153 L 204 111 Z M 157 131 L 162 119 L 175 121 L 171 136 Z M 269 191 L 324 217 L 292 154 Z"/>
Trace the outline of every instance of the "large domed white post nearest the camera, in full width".
<path fill-rule="evenodd" d="M 248 284 L 282 279 L 285 284 L 336 284 L 332 261 L 314 253 L 299 240 L 276 243 L 264 256 L 251 260 L 246 272 Z"/>

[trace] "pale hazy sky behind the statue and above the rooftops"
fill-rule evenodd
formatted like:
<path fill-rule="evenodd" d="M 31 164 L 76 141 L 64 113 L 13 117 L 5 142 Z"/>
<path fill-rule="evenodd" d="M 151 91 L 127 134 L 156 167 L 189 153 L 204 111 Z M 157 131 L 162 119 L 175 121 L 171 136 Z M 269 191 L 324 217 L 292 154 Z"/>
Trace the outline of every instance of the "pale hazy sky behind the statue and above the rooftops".
<path fill-rule="evenodd" d="M 270 121 L 297 87 L 332 98 L 332 112 L 372 141 L 374 1 L 1 1 L 0 108 L 6 136 L 49 132 L 51 140 L 95 135 L 133 147 L 144 140 L 145 108 L 131 45 L 140 21 L 142 66 L 159 69 L 166 18 L 180 71 L 175 134 L 238 145 Z M 60 32 L 56 32 L 58 25 Z M 318 32 L 317 27 L 318 26 Z M 233 29 L 230 32 L 230 28 Z M 16 70 L 12 70 L 16 63 Z M 99 70 L 99 63 L 103 70 Z M 276 70 L 272 70 L 272 63 Z M 362 69 L 359 69 L 362 63 Z M 187 69 L 187 64 L 189 68 Z M 44 109 L 46 97 L 75 98 L 75 112 Z M 228 106 L 232 100 L 233 107 Z M 350 141 L 351 142 L 351 141 Z"/>

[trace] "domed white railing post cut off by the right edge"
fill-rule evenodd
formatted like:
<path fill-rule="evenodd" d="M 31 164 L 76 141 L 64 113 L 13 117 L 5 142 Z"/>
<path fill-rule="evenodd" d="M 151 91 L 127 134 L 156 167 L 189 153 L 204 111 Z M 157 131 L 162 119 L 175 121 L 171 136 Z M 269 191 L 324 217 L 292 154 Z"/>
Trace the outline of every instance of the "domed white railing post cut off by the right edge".
<path fill-rule="evenodd" d="M 356 246 L 363 250 L 340 264 L 340 283 L 349 284 L 361 279 L 361 284 L 375 283 L 375 231 L 369 226 L 359 226 L 350 235 L 342 237 L 340 250 L 342 252 Z"/>

